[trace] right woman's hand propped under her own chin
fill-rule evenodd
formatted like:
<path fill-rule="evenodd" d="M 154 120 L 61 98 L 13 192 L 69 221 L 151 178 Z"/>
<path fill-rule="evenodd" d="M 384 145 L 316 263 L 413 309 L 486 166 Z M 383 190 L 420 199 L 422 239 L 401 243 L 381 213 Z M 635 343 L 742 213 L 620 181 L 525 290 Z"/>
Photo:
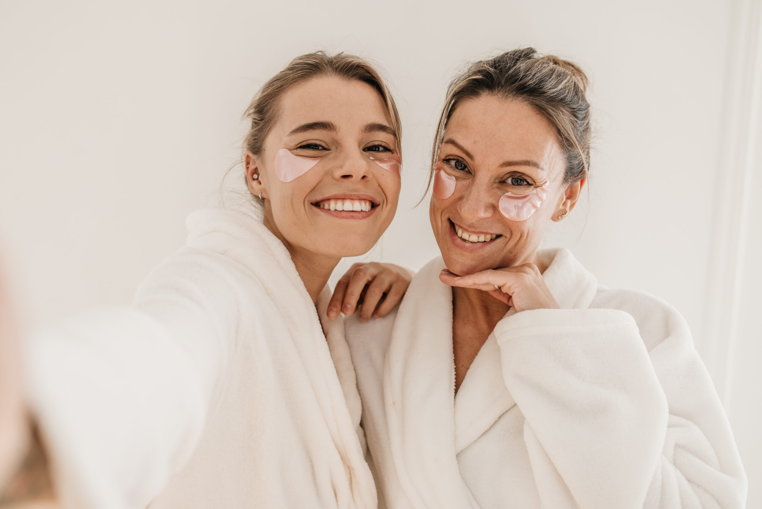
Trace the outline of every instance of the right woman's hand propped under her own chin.
<path fill-rule="evenodd" d="M 559 309 L 559 303 L 553 298 L 543 275 L 534 263 L 482 270 L 482 272 L 463 276 L 444 269 L 439 279 L 445 285 L 489 292 L 489 295 L 516 308 L 516 311 Z"/>

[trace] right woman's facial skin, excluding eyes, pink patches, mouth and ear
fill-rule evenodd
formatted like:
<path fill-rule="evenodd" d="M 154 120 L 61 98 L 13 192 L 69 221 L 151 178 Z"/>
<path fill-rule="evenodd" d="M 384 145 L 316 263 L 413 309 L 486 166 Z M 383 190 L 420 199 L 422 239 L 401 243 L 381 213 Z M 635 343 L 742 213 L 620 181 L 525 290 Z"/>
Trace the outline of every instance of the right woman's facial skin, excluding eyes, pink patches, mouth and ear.
<path fill-rule="evenodd" d="M 523 102 L 482 96 L 456 108 L 447 124 L 444 140 L 448 139 L 456 140 L 474 156 L 468 161 L 472 176 L 465 177 L 471 185 L 464 192 L 460 189 L 466 186 L 459 185 L 450 198 L 431 198 L 431 227 L 448 269 L 456 274 L 472 274 L 535 261 L 547 223 L 565 199 L 565 161 L 552 124 Z M 468 159 L 456 147 L 443 144 L 440 157 L 445 159 L 450 154 Z M 507 172 L 508 168 L 499 167 L 506 160 L 533 160 L 547 169 L 512 168 L 538 184 L 550 181 L 543 205 L 526 221 L 511 221 L 498 210 L 505 190 L 495 181 Z M 488 250 L 481 250 L 478 256 L 464 253 L 453 248 L 448 220 L 465 230 L 470 227 L 502 237 L 488 243 Z"/>

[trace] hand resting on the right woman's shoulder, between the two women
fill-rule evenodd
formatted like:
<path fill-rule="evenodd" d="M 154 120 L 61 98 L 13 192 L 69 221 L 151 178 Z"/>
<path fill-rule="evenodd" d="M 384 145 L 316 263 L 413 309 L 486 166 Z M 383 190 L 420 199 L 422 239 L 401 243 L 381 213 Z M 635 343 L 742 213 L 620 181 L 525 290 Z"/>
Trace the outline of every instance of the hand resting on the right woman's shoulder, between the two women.
<path fill-rule="evenodd" d="M 362 304 L 360 321 L 385 316 L 402 300 L 415 274 L 392 263 L 355 263 L 336 283 L 328 318 L 349 316 Z"/>

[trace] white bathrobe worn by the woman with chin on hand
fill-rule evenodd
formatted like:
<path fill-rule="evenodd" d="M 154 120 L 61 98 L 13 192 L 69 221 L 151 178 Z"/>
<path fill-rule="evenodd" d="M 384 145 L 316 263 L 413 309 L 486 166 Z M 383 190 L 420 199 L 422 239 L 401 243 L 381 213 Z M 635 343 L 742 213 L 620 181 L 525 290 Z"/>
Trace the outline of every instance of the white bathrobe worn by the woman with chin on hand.
<path fill-rule="evenodd" d="M 562 309 L 498 323 L 454 395 L 441 258 L 392 314 L 345 321 L 379 497 L 402 507 L 744 507 L 728 420 L 683 317 L 541 253 Z M 453 396 L 454 395 L 454 396 Z"/>

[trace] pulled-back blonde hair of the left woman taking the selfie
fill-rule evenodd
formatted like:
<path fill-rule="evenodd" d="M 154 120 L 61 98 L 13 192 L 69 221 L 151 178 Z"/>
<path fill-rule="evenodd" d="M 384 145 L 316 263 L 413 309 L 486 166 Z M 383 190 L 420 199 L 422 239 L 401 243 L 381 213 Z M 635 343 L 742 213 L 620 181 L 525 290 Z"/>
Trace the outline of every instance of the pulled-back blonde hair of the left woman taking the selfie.
<path fill-rule="evenodd" d="M 264 140 L 277 122 L 280 111 L 280 98 L 294 85 L 309 81 L 319 76 L 336 76 L 347 80 L 367 83 L 381 96 L 392 130 L 397 138 L 397 152 L 402 156 L 402 128 L 399 112 L 392 98 L 389 87 L 373 63 L 361 56 L 349 53 L 331 55 L 325 51 L 315 51 L 297 56 L 295 59 L 262 85 L 251 103 L 246 108 L 243 118 L 249 119 L 250 126 L 246 134 L 243 151 L 251 151 L 255 156 L 262 153 Z"/>

